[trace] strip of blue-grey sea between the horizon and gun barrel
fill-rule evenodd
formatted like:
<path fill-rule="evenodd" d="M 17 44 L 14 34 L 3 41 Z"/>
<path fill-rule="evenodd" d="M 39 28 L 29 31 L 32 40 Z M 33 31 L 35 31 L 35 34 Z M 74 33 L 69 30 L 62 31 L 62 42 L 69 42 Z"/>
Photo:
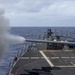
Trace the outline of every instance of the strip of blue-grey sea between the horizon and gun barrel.
<path fill-rule="evenodd" d="M 71 36 L 74 37 L 75 27 L 13 27 L 11 33 L 21 35 L 25 38 L 37 38 L 38 35 L 43 35 L 48 28 L 51 28 L 53 32 L 56 31 L 57 34 L 66 36 L 66 33 L 71 33 Z"/>

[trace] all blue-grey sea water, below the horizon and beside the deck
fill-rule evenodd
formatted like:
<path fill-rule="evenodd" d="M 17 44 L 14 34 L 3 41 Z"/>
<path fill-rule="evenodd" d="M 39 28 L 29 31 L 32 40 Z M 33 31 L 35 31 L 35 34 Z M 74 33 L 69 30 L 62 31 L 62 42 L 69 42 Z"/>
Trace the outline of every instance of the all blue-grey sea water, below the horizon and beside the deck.
<path fill-rule="evenodd" d="M 72 38 L 75 38 L 75 27 L 12 27 L 10 33 L 15 35 L 23 36 L 26 39 L 37 39 L 40 35 L 41 38 L 43 33 L 51 28 L 56 34 L 67 36 L 71 34 Z M 0 62 L 0 75 L 7 75 L 9 72 L 10 64 L 13 63 L 13 59 L 17 56 L 17 53 L 21 53 L 22 49 L 26 46 L 26 43 L 9 46 L 8 52 Z"/>

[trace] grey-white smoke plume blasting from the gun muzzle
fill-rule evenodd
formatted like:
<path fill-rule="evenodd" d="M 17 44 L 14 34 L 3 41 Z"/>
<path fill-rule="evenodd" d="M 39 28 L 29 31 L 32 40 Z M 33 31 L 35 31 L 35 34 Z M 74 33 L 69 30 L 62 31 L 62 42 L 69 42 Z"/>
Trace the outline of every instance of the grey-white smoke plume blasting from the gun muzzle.
<path fill-rule="evenodd" d="M 8 45 L 11 43 L 24 43 L 25 38 L 21 36 L 15 36 L 10 34 L 8 31 L 9 20 L 4 16 L 4 10 L 0 9 L 0 59 L 6 52 Z"/>

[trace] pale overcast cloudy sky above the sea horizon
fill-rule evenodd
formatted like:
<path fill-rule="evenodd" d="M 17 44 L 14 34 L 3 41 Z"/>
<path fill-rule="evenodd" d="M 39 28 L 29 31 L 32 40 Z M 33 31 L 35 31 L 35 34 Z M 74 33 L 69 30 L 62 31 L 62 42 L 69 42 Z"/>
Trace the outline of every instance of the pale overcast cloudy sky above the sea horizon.
<path fill-rule="evenodd" d="M 10 26 L 75 27 L 75 0 L 0 0 Z"/>

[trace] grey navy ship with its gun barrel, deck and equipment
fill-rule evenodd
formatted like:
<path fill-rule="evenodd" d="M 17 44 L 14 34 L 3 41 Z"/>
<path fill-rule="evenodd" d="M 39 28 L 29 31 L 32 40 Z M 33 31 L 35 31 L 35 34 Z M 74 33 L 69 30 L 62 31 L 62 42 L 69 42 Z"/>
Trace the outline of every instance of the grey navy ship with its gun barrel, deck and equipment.
<path fill-rule="evenodd" d="M 48 29 L 42 40 L 26 39 L 25 52 L 15 57 L 9 75 L 75 75 L 75 42 Z"/>

